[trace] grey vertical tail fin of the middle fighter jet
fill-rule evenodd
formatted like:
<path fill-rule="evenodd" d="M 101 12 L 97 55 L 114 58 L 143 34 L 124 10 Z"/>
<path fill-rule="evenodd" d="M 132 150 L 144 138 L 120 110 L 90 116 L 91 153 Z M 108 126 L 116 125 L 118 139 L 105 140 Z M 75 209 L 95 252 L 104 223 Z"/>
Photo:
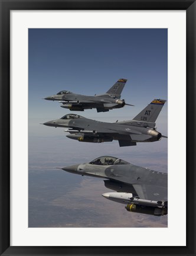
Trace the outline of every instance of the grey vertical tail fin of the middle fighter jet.
<path fill-rule="evenodd" d="M 155 99 L 147 107 L 145 107 L 141 113 L 139 113 L 133 120 L 136 121 L 146 121 L 155 123 L 159 113 L 164 107 L 166 100 Z"/>

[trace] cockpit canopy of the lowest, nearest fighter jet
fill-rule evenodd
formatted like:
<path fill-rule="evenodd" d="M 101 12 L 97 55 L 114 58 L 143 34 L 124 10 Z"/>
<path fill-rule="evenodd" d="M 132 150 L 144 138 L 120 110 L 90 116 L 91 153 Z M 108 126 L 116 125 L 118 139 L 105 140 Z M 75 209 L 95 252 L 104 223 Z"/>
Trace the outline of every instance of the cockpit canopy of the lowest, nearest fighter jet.
<path fill-rule="evenodd" d="M 113 156 L 100 156 L 99 158 L 94 159 L 89 164 L 93 165 L 123 165 L 123 164 L 130 164 L 125 160 L 120 158 L 115 158 Z"/>

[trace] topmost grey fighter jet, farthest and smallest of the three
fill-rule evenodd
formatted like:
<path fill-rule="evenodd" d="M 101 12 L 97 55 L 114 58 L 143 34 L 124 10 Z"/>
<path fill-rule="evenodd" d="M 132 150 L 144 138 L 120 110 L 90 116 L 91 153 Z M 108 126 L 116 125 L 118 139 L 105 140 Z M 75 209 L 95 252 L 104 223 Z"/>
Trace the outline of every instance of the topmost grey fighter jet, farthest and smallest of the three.
<path fill-rule="evenodd" d="M 87 96 L 75 94 L 70 91 L 60 91 L 55 95 L 44 98 L 45 100 L 60 101 L 61 107 L 71 111 L 84 111 L 85 109 L 97 108 L 97 112 L 106 112 L 113 108 L 122 108 L 126 104 L 125 100 L 120 100 L 120 94 L 126 84 L 127 79 L 119 79 L 105 94 Z M 133 105 L 131 105 L 133 106 Z"/>

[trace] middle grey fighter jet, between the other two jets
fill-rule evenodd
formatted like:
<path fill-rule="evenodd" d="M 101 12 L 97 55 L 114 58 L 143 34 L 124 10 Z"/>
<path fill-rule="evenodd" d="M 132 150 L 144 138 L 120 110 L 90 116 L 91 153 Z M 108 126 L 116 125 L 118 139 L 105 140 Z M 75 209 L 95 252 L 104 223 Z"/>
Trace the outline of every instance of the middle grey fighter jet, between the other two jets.
<path fill-rule="evenodd" d="M 155 142 L 162 136 L 155 129 L 155 121 L 166 100 L 153 100 L 133 120 L 105 123 L 86 119 L 78 114 L 66 114 L 61 119 L 47 121 L 46 126 L 68 127 L 70 139 L 79 142 L 112 142 L 118 140 L 119 146 L 135 146 L 136 142 Z"/>

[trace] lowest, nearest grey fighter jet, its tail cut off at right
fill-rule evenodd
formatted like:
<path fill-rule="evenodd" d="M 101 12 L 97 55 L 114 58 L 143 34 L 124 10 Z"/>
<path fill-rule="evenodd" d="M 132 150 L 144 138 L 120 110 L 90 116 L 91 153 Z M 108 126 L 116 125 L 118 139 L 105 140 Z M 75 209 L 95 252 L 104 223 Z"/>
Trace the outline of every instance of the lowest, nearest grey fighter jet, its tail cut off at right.
<path fill-rule="evenodd" d="M 168 175 L 165 172 L 138 167 L 113 156 L 100 156 L 92 162 L 61 169 L 82 176 L 106 178 L 105 187 L 116 192 L 102 196 L 126 204 L 129 212 L 155 216 L 168 213 Z"/>

